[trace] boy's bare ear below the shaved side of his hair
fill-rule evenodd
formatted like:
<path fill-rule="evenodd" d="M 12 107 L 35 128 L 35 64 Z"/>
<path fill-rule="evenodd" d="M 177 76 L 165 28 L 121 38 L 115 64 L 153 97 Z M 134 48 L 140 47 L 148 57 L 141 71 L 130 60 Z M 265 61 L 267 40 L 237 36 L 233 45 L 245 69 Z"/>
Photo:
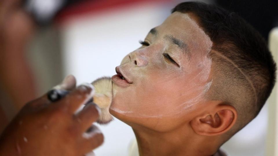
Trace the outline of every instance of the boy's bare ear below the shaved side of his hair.
<path fill-rule="evenodd" d="M 235 107 L 217 101 L 210 101 L 206 105 L 210 106 L 206 112 L 190 121 L 195 133 L 206 136 L 220 135 L 233 127 L 237 119 Z"/>

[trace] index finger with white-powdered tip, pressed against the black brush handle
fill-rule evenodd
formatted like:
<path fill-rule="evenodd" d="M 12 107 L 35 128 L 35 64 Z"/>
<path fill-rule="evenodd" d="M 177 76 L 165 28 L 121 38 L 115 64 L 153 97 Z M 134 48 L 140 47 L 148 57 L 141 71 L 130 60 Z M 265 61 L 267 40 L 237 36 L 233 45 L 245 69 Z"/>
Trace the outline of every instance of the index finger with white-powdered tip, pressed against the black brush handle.
<path fill-rule="evenodd" d="M 84 105 L 94 95 L 94 86 L 90 83 L 83 83 L 75 90 L 67 94 L 63 99 L 58 101 L 60 107 L 69 113 L 74 113 L 81 105 Z"/>

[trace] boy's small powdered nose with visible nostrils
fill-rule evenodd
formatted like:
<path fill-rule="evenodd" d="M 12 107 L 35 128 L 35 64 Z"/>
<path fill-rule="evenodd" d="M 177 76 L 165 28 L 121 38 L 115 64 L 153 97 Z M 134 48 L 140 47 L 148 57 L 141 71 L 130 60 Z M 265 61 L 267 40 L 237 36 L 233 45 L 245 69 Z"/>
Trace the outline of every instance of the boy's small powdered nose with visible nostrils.
<path fill-rule="evenodd" d="M 135 64 L 135 66 L 138 67 L 145 67 L 148 64 L 148 58 L 145 55 L 142 55 L 140 52 L 138 51 L 134 51 L 132 53 L 129 54 L 129 59 L 131 60 L 131 62 L 133 64 Z"/>

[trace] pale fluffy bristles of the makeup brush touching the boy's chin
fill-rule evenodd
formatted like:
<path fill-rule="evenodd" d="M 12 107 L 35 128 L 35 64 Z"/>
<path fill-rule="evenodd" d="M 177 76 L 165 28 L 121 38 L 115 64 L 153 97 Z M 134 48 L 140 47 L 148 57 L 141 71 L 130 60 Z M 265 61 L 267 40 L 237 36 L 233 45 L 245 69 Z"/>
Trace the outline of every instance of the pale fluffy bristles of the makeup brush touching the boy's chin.
<path fill-rule="evenodd" d="M 109 107 L 112 102 L 112 81 L 110 77 L 100 77 L 92 82 L 95 88 L 93 96 L 94 103 L 100 107 L 101 113 L 98 116 L 99 124 L 107 124 L 113 120 L 109 113 Z"/>

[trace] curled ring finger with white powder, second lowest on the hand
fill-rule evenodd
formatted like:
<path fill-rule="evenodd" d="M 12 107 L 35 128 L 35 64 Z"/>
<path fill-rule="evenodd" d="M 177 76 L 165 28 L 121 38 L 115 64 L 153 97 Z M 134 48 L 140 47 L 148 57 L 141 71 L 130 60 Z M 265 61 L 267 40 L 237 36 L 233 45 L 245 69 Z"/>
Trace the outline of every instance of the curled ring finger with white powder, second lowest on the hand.
<path fill-rule="evenodd" d="M 104 137 L 101 131 L 96 127 L 95 125 L 92 125 L 89 129 L 90 131 L 83 133 L 83 142 L 81 143 L 81 146 L 85 153 L 88 153 L 92 151 L 93 149 L 100 146 L 103 141 Z"/>

